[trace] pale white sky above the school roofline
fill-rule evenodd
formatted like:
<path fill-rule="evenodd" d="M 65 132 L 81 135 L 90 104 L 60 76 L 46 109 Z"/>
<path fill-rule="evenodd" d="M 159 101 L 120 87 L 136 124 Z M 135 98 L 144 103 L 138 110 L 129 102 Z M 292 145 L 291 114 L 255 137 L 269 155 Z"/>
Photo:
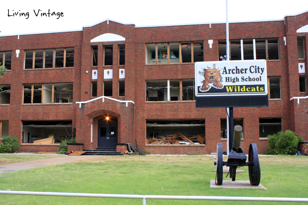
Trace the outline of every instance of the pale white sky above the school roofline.
<path fill-rule="evenodd" d="M 228 0 L 229 22 L 283 19 L 307 10 L 307 0 Z M 41 16 L 42 12 L 50 12 L 50 16 Z M 107 18 L 136 26 L 223 23 L 226 1 L 2 1 L 0 36 L 82 30 Z"/>

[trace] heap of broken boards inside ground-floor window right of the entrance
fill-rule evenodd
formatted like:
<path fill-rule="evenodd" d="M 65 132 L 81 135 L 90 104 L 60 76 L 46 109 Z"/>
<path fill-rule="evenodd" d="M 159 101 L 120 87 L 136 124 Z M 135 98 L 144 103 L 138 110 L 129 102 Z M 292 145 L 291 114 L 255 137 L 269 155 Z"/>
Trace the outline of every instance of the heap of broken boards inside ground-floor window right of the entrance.
<path fill-rule="evenodd" d="M 172 135 L 153 136 L 151 139 L 146 139 L 148 145 L 200 145 L 205 144 L 204 134 L 183 135 L 176 132 Z"/>

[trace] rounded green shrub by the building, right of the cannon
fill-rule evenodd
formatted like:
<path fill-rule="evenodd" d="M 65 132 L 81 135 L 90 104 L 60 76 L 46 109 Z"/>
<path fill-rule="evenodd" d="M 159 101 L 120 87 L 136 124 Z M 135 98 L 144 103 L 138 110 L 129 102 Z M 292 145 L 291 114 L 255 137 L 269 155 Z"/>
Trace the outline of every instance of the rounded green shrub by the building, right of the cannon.
<path fill-rule="evenodd" d="M 298 142 L 301 140 L 291 130 L 277 132 L 267 136 L 268 149 L 264 154 L 292 155 L 298 151 Z"/>

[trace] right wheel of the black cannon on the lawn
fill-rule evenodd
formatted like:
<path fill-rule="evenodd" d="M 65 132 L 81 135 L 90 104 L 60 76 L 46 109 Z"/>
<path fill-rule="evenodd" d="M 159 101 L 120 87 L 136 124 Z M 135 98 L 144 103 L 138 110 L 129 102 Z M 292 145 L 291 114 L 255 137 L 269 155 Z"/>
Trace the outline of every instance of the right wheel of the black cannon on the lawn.
<path fill-rule="evenodd" d="M 261 179 L 261 169 L 260 169 L 258 149 L 256 144 L 252 143 L 249 146 L 248 161 L 249 161 L 249 167 L 248 167 L 249 180 L 252 186 L 258 186 L 260 184 L 260 179 Z"/>

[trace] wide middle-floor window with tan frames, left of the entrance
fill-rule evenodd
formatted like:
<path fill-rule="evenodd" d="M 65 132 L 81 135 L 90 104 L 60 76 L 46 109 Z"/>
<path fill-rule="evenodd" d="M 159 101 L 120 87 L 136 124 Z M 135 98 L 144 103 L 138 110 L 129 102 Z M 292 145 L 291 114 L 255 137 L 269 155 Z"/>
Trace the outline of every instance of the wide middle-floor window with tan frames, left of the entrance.
<path fill-rule="evenodd" d="M 73 84 L 24 85 L 24 104 L 72 103 Z"/>

